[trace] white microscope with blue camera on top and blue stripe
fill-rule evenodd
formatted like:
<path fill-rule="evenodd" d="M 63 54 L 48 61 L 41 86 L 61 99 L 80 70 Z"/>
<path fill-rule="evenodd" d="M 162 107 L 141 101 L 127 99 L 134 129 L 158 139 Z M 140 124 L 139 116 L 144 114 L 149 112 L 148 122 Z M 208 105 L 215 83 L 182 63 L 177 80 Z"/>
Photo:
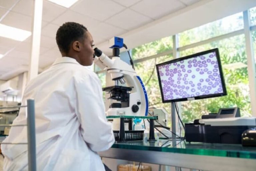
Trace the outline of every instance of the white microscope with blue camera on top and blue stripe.
<path fill-rule="evenodd" d="M 124 47 L 123 39 L 114 37 L 113 57 L 110 59 L 98 48 L 94 49 L 94 62 L 101 69 L 107 70 L 114 86 L 104 87 L 114 101 L 106 111 L 107 116 L 147 116 L 148 97 L 142 80 L 135 70 L 120 59 L 120 48 Z"/>

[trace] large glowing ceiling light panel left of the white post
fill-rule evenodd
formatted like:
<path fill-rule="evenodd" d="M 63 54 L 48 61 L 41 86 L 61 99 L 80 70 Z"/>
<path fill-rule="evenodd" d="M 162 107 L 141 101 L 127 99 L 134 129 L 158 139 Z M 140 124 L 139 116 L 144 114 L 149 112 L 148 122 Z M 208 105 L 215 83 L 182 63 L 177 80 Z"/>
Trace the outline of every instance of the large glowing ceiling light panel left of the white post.
<path fill-rule="evenodd" d="M 0 36 L 10 38 L 13 40 L 24 41 L 29 36 L 31 36 L 31 32 L 0 24 Z"/>

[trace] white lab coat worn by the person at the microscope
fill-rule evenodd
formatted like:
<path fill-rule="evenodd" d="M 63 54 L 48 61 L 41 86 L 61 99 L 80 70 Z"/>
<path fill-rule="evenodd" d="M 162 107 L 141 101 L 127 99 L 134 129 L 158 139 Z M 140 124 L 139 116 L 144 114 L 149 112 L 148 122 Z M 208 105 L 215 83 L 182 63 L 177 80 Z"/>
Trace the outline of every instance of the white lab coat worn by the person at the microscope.
<path fill-rule="evenodd" d="M 35 99 L 37 171 L 104 171 L 98 151 L 114 143 L 97 75 L 69 57 L 57 58 L 24 92 Z M 13 124 L 26 124 L 21 108 Z M 27 127 L 12 127 L 4 142 L 27 142 Z M 25 171 L 27 145 L 1 145 L 4 171 Z"/>

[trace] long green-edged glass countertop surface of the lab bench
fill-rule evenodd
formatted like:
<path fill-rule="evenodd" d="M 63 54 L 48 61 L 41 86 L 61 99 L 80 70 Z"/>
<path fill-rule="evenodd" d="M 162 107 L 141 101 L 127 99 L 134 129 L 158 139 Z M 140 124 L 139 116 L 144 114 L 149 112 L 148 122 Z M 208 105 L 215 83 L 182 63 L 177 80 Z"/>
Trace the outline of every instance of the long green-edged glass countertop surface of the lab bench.
<path fill-rule="evenodd" d="M 112 148 L 256 159 L 256 147 L 243 147 L 241 144 L 188 143 L 161 139 L 155 142 L 115 142 Z"/>

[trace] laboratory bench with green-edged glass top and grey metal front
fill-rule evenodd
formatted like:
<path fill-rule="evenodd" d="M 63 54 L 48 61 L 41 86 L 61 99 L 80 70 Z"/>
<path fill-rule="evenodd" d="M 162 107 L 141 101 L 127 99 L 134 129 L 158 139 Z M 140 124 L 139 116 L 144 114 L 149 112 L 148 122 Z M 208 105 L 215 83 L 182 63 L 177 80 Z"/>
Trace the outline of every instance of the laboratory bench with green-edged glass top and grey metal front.
<path fill-rule="evenodd" d="M 256 171 L 256 147 L 183 140 L 115 142 L 101 157 L 204 171 Z"/>

